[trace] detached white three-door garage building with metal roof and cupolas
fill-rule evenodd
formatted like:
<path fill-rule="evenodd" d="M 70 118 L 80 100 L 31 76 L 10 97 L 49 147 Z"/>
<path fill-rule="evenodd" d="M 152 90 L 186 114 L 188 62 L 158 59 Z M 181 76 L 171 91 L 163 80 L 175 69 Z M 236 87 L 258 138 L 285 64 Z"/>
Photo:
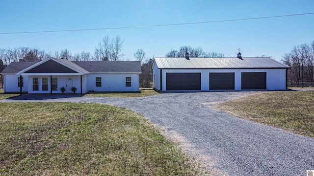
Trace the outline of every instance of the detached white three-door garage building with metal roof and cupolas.
<path fill-rule="evenodd" d="M 290 68 L 271 58 L 155 58 L 157 90 L 284 90 Z"/>

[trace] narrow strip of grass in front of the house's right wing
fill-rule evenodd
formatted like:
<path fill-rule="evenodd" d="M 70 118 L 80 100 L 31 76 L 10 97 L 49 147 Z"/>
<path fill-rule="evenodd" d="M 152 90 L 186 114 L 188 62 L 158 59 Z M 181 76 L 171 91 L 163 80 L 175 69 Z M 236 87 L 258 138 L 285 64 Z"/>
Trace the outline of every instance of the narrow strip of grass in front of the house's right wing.
<path fill-rule="evenodd" d="M 140 92 L 135 93 L 88 93 L 84 96 L 91 96 L 91 97 L 117 97 L 117 98 L 138 98 L 138 97 L 145 97 L 145 96 L 152 96 L 159 94 L 157 91 L 152 89 L 144 89 L 140 90 Z"/>

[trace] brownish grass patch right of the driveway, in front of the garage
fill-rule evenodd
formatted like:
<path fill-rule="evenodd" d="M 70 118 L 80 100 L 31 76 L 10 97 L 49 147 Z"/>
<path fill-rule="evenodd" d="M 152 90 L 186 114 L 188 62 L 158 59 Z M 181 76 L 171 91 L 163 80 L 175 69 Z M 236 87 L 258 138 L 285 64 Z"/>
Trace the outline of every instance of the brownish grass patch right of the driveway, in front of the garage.
<path fill-rule="evenodd" d="M 314 137 L 314 91 L 265 92 L 222 103 L 243 119 Z"/>

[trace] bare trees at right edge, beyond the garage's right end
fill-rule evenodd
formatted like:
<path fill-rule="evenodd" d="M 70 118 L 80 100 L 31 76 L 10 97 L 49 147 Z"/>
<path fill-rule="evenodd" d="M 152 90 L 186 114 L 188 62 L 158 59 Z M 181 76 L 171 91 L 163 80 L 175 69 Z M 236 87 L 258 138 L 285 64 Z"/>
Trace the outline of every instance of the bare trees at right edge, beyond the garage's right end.
<path fill-rule="evenodd" d="M 282 62 L 288 69 L 288 86 L 314 86 L 314 41 L 312 44 L 294 46 L 289 53 L 285 53 Z"/>

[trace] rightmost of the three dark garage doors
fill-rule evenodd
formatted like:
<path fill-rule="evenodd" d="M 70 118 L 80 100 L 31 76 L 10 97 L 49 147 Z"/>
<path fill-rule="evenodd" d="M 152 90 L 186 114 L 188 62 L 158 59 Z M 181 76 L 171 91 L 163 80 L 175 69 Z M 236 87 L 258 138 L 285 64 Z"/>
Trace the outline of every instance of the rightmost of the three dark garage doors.
<path fill-rule="evenodd" d="M 242 73 L 242 89 L 266 89 L 266 73 Z"/>

